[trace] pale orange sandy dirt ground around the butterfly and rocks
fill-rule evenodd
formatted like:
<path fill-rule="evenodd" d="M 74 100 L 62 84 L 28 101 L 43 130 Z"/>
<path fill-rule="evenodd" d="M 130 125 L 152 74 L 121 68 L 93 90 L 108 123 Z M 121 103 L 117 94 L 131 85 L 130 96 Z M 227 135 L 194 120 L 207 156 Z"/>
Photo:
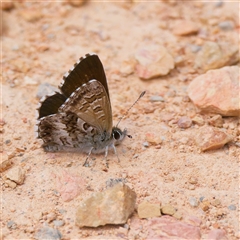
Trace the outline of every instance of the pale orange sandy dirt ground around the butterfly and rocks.
<path fill-rule="evenodd" d="M 193 124 L 183 130 L 177 125 L 181 116 L 198 115 L 205 124 L 212 116 L 199 113 L 187 96 L 189 82 L 199 74 L 193 69 L 195 53 L 189 46 L 202 45 L 206 38 L 236 43 L 235 30 L 219 32 L 217 26 L 229 19 L 238 24 L 239 5 L 220 5 L 199 1 L 90 1 L 77 7 L 63 1 L 18 1 L 12 9 L 2 11 L 3 153 L 12 156 L 10 169 L 20 167 L 25 172 L 24 183 L 16 188 L 3 181 L 9 170 L 2 173 L 0 221 L 4 239 L 33 239 L 44 224 L 56 228 L 52 220 L 62 220 L 57 228 L 63 239 L 116 236 L 119 226 L 80 229 L 74 221 L 83 199 L 104 190 L 109 179 L 118 178 L 126 179 L 135 190 L 137 203 L 170 204 L 181 213 L 182 221 L 189 216 L 199 219 L 202 238 L 216 228 L 224 229 L 228 239 L 238 239 L 239 148 L 229 144 L 202 153 L 194 141 L 201 128 Z M 202 35 L 174 35 L 173 25 L 179 19 L 200 26 Z M 151 43 L 163 45 L 174 59 L 183 57 L 184 61 L 167 76 L 142 81 L 134 67 L 132 73 L 126 73 L 125 67 L 134 65 L 140 45 Z M 42 141 L 34 136 L 39 85 L 47 82 L 58 86 L 63 74 L 88 52 L 96 52 L 104 65 L 114 123 L 146 90 L 120 124 L 133 138 L 117 148 L 120 163 L 113 152 L 109 153 L 108 168 L 103 155 L 92 156 L 95 160 L 91 166 L 83 167 L 85 154 L 45 153 Z M 156 95 L 164 101 L 150 101 Z M 224 118 L 224 123 L 232 123 L 233 129 L 239 127 L 234 117 Z M 146 142 L 147 134 L 152 133 L 161 143 Z M 77 196 L 64 188 L 67 183 L 73 187 L 72 182 L 77 185 Z M 197 206 L 191 205 L 192 199 Z M 203 199 L 209 203 L 208 210 L 201 207 Z M 141 221 L 142 225 L 147 222 Z M 131 226 L 131 219 L 128 224 Z M 147 235 L 139 230 L 134 237 L 146 239 Z M 124 238 L 133 236 L 126 233 Z"/>

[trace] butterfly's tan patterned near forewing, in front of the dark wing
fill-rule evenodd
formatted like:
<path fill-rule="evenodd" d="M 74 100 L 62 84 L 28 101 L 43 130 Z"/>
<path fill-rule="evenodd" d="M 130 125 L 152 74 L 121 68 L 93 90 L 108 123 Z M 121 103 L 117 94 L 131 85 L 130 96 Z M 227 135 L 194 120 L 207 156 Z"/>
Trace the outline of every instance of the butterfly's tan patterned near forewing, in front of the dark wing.
<path fill-rule="evenodd" d="M 112 110 L 103 85 L 91 80 L 76 89 L 60 107 L 60 112 L 74 112 L 101 133 L 112 131 Z"/>

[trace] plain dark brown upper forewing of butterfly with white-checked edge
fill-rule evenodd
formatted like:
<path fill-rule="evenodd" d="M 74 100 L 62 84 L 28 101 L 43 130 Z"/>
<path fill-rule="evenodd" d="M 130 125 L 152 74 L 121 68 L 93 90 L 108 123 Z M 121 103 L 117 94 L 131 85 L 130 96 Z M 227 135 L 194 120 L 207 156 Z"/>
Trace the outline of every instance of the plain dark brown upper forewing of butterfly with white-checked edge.
<path fill-rule="evenodd" d="M 78 87 L 92 79 L 98 80 L 103 85 L 109 98 L 104 68 L 99 57 L 94 53 L 80 58 L 73 69 L 64 75 L 64 82 L 59 88 L 66 97 L 69 97 Z"/>

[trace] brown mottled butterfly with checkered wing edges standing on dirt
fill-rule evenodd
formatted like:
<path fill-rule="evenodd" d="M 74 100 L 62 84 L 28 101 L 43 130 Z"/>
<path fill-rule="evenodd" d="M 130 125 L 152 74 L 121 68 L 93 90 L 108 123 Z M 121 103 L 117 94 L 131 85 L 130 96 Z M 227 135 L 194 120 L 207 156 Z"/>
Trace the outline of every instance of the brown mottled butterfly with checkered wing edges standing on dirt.
<path fill-rule="evenodd" d="M 103 153 L 120 144 L 127 134 L 113 126 L 112 108 L 103 65 L 94 53 L 86 54 L 69 70 L 60 92 L 40 100 L 37 137 L 47 152 L 77 150 Z M 86 160 L 87 161 L 87 160 Z M 86 162 L 85 162 L 86 163 Z"/>

